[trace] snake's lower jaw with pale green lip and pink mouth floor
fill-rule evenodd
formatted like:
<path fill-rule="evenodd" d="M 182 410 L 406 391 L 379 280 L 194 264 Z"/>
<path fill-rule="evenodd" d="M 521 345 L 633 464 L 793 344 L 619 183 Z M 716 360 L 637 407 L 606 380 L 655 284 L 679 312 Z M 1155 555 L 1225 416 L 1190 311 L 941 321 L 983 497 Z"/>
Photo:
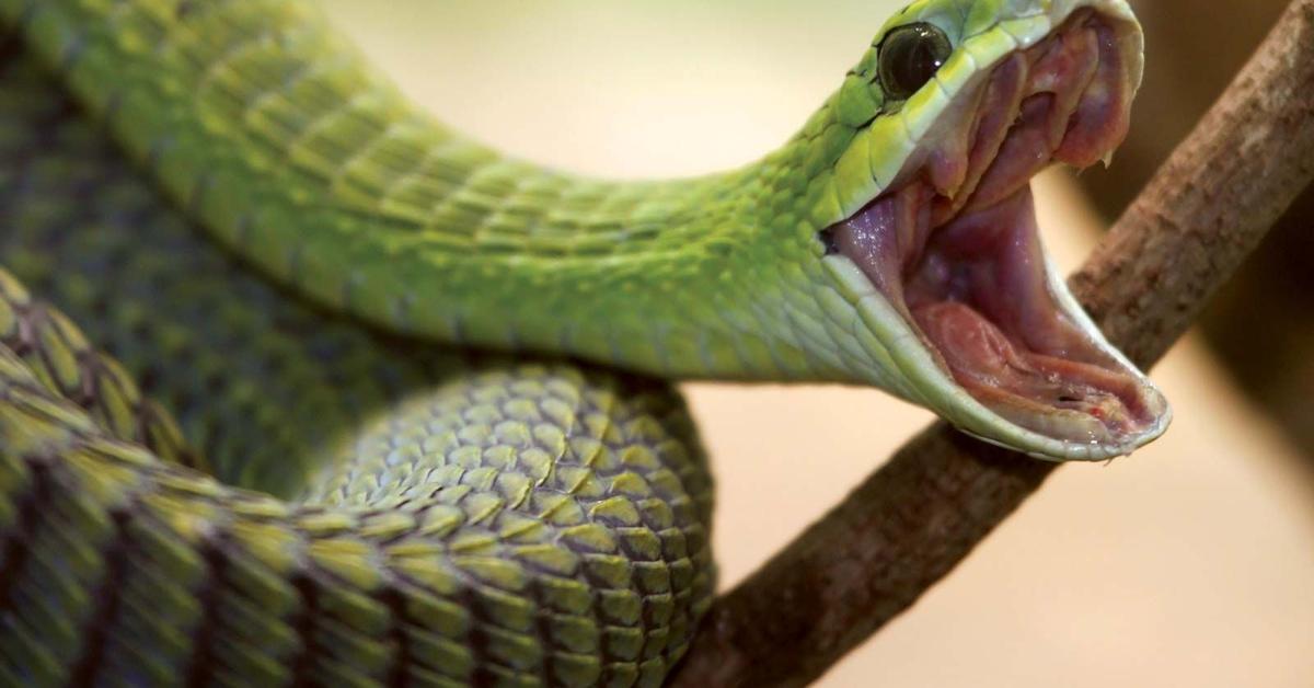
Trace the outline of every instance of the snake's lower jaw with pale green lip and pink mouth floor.
<path fill-rule="evenodd" d="M 1029 189 L 1010 200 L 1030 209 Z M 879 342 L 871 353 L 894 375 L 871 380 L 968 434 L 1041 459 L 1104 460 L 1130 454 L 1171 421 L 1163 396 L 1102 338 L 1047 266 L 1037 272 L 1037 293 L 1051 317 L 1028 338 L 970 296 L 915 289 L 909 303 L 872 292 L 862 266 L 845 255 L 825 264 L 845 292 L 858 295 L 858 314 Z M 980 364 L 983 351 L 1001 363 Z"/>

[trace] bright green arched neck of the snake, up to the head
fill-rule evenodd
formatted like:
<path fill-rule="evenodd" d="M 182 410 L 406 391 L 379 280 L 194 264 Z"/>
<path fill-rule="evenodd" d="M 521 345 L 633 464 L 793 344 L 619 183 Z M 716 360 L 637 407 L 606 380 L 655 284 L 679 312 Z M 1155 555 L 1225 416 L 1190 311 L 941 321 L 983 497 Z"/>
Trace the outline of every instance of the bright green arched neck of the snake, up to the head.
<path fill-rule="evenodd" d="M 0 11 L 189 216 L 322 305 L 661 375 L 854 378 L 804 354 L 833 108 L 733 172 L 598 182 L 436 124 L 306 3 Z"/>

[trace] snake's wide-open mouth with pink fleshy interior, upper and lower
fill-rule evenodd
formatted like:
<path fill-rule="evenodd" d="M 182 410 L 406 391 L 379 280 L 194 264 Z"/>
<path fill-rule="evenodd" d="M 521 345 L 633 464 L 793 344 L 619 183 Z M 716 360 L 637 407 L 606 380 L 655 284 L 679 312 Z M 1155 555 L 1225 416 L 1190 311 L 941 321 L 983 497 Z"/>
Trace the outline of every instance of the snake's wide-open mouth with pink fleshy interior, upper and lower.
<path fill-rule="evenodd" d="M 825 239 L 987 409 L 1064 443 L 1129 450 L 1162 430 L 1167 404 L 1056 293 L 1029 187 L 1054 160 L 1087 167 L 1122 141 L 1134 84 L 1118 38 L 1084 9 L 1003 58 Z"/>

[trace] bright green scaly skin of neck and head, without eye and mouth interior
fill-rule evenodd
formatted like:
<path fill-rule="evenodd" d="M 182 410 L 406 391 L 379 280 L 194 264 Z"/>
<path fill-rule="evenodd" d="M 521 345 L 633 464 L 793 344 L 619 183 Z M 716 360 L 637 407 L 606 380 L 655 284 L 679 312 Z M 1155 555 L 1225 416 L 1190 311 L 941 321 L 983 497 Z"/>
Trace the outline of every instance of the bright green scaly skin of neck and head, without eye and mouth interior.
<path fill-rule="evenodd" d="M 925 162 L 937 121 L 991 66 L 1081 12 L 1116 26 L 1121 86 L 1100 91 L 1130 103 L 1142 43 L 1123 0 L 916 0 L 777 150 L 727 172 L 615 182 L 435 121 L 307 0 L 0 0 L 0 22 L 164 196 L 322 308 L 430 342 L 661 378 L 874 385 L 1035 456 L 1099 460 L 1158 437 L 1168 412 L 1053 272 L 1046 288 L 1080 338 L 1155 397 L 1144 431 L 1088 442 L 991 408 L 824 239 Z M 896 97 L 879 46 L 911 22 L 936 26 L 950 51 Z"/>

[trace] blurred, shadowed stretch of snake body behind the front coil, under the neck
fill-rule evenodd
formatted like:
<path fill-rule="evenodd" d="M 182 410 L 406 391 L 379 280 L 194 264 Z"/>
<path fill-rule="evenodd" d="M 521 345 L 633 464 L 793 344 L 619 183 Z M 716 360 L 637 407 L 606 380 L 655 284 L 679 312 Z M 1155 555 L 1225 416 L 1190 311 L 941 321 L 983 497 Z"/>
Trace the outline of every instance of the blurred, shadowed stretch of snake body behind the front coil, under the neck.
<path fill-rule="evenodd" d="M 173 409 L 219 479 L 288 493 L 344 429 L 464 364 L 407 355 L 415 347 L 290 304 L 247 275 L 168 212 L 32 66 L 8 67 L 0 103 L 0 159 L 11 160 L 0 264 Z"/>

